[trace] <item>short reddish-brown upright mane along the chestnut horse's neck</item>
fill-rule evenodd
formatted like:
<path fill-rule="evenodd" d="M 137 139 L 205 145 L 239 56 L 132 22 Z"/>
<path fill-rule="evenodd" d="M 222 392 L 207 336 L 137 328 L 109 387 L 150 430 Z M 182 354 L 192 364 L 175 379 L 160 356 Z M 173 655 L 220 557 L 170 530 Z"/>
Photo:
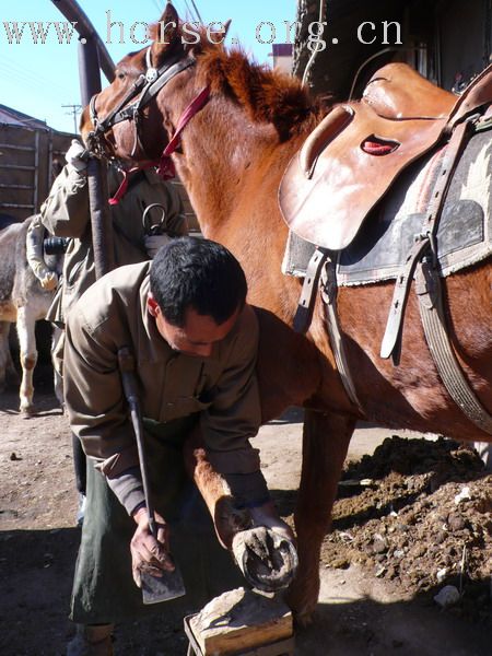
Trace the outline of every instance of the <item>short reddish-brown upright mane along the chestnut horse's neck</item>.
<path fill-rule="evenodd" d="M 312 130 L 326 114 L 296 78 L 249 61 L 241 47 L 227 50 L 210 43 L 204 30 L 200 42 L 187 48 L 197 59 L 200 84 L 241 104 L 251 120 L 273 124 L 281 141 Z"/>

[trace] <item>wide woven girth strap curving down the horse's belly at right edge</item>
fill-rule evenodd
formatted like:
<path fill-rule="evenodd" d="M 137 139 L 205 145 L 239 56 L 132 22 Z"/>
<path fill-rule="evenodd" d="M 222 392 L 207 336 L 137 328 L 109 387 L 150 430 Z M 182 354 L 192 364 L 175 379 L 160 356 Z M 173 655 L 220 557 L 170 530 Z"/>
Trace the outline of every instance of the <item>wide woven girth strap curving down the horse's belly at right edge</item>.
<path fill-rule="evenodd" d="M 434 266 L 419 262 L 415 277 L 420 316 L 432 359 L 449 396 L 480 430 L 492 435 L 492 417 L 469 386 L 449 340 L 441 279 Z"/>

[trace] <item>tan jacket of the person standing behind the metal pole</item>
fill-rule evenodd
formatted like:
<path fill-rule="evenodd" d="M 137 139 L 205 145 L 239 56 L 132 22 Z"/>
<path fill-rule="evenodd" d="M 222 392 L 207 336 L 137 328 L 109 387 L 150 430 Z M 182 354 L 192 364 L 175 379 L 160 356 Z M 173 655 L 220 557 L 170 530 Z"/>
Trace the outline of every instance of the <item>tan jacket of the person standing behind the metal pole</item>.
<path fill-rule="evenodd" d="M 188 233 L 183 204 L 175 188 L 163 183 L 151 169 L 134 175 L 138 177 L 130 178 L 129 189 L 119 204 L 110 208 L 115 263 L 118 267 L 149 259 L 143 246 L 142 214 L 152 203 L 166 208 L 167 225 L 174 236 Z M 116 191 L 119 181 L 114 169 L 109 169 L 110 194 Z M 49 320 L 63 324 L 71 305 L 95 281 L 85 173 L 66 166 L 55 180 L 40 212 L 48 232 L 57 237 L 73 237 L 65 256 L 61 288 L 47 315 Z"/>

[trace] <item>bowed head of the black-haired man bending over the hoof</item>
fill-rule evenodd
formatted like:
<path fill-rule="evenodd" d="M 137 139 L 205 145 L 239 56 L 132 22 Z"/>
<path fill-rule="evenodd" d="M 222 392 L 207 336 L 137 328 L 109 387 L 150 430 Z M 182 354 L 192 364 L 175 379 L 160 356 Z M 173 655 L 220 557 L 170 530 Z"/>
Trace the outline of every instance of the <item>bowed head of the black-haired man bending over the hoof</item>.
<path fill-rule="evenodd" d="M 150 270 L 149 311 L 172 348 L 209 356 L 242 311 L 246 278 L 235 257 L 220 244 L 181 237 L 166 244 Z"/>

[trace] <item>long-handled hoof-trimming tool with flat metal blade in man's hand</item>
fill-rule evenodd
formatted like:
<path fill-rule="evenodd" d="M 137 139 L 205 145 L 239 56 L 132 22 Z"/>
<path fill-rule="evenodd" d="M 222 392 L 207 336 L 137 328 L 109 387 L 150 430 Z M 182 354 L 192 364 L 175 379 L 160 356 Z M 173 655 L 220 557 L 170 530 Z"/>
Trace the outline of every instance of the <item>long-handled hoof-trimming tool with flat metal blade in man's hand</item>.
<path fill-rule="evenodd" d="M 140 409 L 140 400 L 134 375 L 134 358 L 128 347 L 118 350 L 118 365 L 121 372 L 121 380 L 125 397 L 130 408 L 131 423 L 133 424 L 137 447 L 139 450 L 140 472 L 142 476 L 143 494 L 145 496 L 147 512 L 149 515 L 149 527 L 152 535 L 157 539 L 157 527 L 155 524 L 154 507 L 149 487 L 149 473 L 147 469 L 145 445 L 143 442 L 143 422 Z M 162 572 L 162 576 L 151 576 L 148 572 L 141 573 L 143 604 L 157 604 L 167 601 L 186 594 L 179 567 L 175 564 L 174 572 Z"/>

